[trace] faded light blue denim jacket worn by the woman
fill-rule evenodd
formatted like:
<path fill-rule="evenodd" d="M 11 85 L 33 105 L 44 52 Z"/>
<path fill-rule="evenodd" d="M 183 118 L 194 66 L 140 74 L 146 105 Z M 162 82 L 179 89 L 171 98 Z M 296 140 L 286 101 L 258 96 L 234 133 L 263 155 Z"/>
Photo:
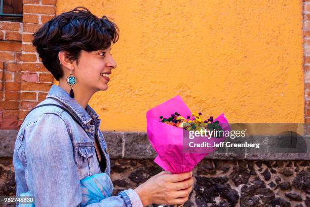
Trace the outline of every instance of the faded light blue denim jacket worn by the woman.
<path fill-rule="evenodd" d="M 99 138 L 98 147 L 107 161 L 104 172 L 110 176 L 109 154 L 99 129 L 101 120 L 89 105 L 84 109 L 57 85 L 52 85 L 46 99 L 38 105 L 45 103 L 65 107 L 86 131 L 59 107 L 44 106 L 31 111 L 19 129 L 14 147 L 16 196 L 29 191 L 36 207 L 80 206 L 80 180 L 100 173 L 94 147 L 95 133 Z M 106 185 L 113 188 L 111 182 Z M 139 195 L 129 188 L 87 206 L 143 205 Z"/>

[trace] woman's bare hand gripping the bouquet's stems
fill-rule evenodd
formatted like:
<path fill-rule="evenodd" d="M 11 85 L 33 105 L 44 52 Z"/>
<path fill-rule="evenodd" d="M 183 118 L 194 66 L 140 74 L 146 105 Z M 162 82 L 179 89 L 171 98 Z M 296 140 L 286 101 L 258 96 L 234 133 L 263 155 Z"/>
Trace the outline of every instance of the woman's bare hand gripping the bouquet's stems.
<path fill-rule="evenodd" d="M 156 204 L 182 204 L 188 200 L 194 182 L 192 172 L 172 174 L 162 171 L 134 189 L 143 206 Z"/>

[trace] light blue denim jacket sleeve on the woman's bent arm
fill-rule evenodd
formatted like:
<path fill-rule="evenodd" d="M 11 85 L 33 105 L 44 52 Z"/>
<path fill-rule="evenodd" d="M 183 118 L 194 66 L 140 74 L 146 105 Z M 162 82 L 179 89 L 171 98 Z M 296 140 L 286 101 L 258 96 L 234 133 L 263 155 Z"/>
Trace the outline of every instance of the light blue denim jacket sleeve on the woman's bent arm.
<path fill-rule="evenodd" d="M 25 127 L 26 180 L 36 207 L 80 206 L 82 202 L 69 131 L 65 120 L 53 113 L 45 113 Z M 128 189 L 87 206 L 143 205 L 139 195 Z"/>

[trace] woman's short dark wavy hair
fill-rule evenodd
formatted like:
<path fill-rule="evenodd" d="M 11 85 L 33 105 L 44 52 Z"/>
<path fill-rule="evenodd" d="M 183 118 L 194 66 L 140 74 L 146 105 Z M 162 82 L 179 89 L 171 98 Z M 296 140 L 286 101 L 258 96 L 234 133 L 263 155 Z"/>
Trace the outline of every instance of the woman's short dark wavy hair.
<path fill-rule="evenodd" d="M 63 76 L 58 53 L 78 60 L 81 50 L 105 50 L 119 40 L 119 28 L 106 16 L 98 18 L 85 7 L 55 16 L 33 33 L 32 44 L 44 66 L 59 81 Z"/>

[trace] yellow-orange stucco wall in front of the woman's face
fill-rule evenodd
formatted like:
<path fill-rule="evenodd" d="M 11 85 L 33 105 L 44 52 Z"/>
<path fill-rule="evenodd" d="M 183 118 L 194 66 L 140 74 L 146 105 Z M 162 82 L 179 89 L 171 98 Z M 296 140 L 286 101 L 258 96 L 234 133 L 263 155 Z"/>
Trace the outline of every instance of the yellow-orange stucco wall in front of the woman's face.
<path fill-rule="evenodd" d="M 57 14 L 76 6 L 121 30 L 90 101 L 101 130 L 146 131 L 146 111 L 176 95 L 230 122 L 304 121 L 301 1 L 57 0 Z"/>

